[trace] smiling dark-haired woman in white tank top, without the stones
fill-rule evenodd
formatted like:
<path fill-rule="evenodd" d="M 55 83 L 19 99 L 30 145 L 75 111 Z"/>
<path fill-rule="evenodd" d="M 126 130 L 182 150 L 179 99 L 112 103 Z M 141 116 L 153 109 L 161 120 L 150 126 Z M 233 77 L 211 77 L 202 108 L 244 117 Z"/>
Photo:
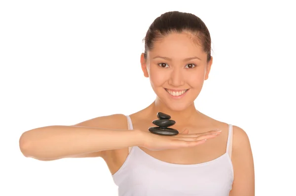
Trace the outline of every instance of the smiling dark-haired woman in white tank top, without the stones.
<path fill-rule="evenodd" d="M 241 128 L 194 106 L 213 63 L 210 33 L 193 14 L 167 12 L 145 37 L 141 66 L 156 99 L 139 112 L 49 126 L 20 137 L 24 156 L 41 161 L 102 157 L 119 196 L 254 196 L 250 142 Z M 169 114 L 177 135 L 149 131 Z"/>

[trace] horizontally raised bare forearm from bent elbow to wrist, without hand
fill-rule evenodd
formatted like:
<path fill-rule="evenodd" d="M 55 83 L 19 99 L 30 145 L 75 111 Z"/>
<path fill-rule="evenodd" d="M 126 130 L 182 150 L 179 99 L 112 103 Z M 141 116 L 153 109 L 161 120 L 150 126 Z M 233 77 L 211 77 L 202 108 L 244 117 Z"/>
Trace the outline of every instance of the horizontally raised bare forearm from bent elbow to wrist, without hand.
<path fill-rule="evenodd" d="M 49 126 L 24 132 L 20 149 L 26 157 L 54 159 L 138 146 L 141 140 L 141 133 L 136 130 Z"/>

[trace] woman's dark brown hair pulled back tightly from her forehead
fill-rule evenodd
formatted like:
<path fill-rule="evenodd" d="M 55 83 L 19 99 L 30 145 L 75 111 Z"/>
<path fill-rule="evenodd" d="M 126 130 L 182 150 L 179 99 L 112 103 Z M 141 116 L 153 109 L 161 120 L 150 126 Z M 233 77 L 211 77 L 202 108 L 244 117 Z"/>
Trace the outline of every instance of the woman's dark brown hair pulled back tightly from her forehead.
<path fill-rule="evenodd" d="M 207 62 L 211 60 L 211 36 L 204 22 L 194 14 L 171 11 L 157 17 L 150 25 L 145 38 L 144 57 L 153 49 L 153 43 L 170 33 L 191 33 L 207 54 Z"/>

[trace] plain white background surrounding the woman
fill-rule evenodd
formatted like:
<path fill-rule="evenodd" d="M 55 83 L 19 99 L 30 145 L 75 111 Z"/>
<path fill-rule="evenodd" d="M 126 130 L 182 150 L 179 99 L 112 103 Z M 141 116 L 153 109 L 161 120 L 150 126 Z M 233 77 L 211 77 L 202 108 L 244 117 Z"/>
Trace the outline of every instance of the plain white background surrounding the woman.
<path fill-rule="evenodd" d="M 197 109 L 244 129 L 256 195 L 295 191 L 295 6 L 281 1 L 0 1 L 0 196 L 116 196 L 101 158 L 25 158 L 20 135 L 131 114 L 155 94 L 140 55 L 166 11 L 207 25 L 214 62 Z M 294 12 L 294 13 L 293 13 Z"/>

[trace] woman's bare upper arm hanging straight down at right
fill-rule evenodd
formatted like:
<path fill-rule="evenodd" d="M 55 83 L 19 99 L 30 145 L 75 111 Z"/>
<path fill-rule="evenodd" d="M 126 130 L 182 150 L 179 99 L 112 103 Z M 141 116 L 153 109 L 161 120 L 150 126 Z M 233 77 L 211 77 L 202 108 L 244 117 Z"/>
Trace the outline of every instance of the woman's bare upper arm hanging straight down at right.
<path fill-rule="evenodd" d="M 255 196 L 255 172 L 247 133 L 233 126 L 232 164 L 234 181 L 229 196 Z"/>

